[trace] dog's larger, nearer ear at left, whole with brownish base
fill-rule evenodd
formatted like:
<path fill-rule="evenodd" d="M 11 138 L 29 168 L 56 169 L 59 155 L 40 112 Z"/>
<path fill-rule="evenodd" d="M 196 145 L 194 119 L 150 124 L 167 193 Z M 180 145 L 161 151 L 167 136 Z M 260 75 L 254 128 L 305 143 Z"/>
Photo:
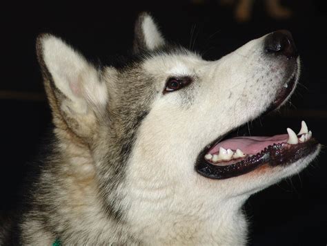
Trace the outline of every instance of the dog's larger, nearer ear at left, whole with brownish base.
<path fill-rule="evenodd" d="M 97 114 L 103 113 L 108 101 L 99 71 L 64 41 L 48 34 L 37 38 L 37 57 L 55 126 L 83 140 L 89 138 Z"/>

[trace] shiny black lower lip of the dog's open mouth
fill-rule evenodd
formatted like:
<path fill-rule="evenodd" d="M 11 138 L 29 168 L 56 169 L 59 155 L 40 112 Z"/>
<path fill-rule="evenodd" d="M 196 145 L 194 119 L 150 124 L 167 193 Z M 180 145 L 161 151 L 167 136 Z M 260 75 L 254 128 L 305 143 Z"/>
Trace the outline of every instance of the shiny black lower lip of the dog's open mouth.
<path fill-rule="evenodd" d="M 251 157 L 228 166 L 216 166 L 207 162 L 204 159 L 204 155 L 206 155 L 207 151 L 210 149 L 210 147 L 208 147 L 199 155 L 197 163 L 195 164 L 195 169 L 201 176 L 206 178 L 223 180 L 249 173 L 264 164 L 268 164 L 270 167 L 279 165 L 287 166 L 313 153 L 318 145 L 319 143 L 314 138 L 299 144 L 273 144 L 260 153 L 257 153 L 257 155 L 252 155 Z"/>

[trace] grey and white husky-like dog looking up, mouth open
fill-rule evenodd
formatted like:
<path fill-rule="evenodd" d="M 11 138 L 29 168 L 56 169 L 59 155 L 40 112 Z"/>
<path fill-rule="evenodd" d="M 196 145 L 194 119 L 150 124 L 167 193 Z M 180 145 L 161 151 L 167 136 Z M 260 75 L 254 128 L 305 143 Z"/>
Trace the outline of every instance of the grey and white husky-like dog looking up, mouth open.
<path fill-rule="evenodd" d="M 295 91 L 290 32 L 205 61 L 142 13 L 133 53 L 96 66 L 59 37 L 37 38 L 54 136 L 17 244 L 245 245 L 244 202 L 318 155 L 305 122 L 298 134 L 237 134 Z"/>

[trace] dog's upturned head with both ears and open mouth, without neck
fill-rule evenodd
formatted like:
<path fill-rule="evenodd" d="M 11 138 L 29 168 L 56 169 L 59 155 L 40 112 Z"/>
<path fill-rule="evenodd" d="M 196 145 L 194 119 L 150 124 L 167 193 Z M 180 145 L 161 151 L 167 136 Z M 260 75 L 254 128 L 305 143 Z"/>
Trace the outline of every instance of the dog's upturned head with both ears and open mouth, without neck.
<path fill-rule="evenodd" d="M 93 66 L 52 35 L 37 42 L 59 142 L 88 149 L 86 172 L 128 225 L 145 233 L 149 223 L 217 220 L 315 158 L 319 144 L 305 124 L 299 136 L 230 138 L 295 90 L 300 64 L 289 32 L 217 61 L 170 46 L 150 15 L 135 32 L 135 57 L 123 66 Z"/>

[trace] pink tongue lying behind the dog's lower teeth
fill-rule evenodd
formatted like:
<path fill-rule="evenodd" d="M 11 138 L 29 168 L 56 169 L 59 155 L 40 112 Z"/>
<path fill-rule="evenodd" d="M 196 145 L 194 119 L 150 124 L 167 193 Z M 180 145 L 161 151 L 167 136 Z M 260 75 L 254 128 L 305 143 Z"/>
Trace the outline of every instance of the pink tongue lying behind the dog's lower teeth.
<path fill-rule="evenodd" d="M 269 145 L 287 142 L 288 134 L 275 135 L 273 137 L 237 137 L 224 140 L 215 145 L 210 151 L 210 154 L 219 152 L 219 148 L 232 149 L 236 151 L 240 149 L 247 155 L 255 155 L 261 152 Z"/>

